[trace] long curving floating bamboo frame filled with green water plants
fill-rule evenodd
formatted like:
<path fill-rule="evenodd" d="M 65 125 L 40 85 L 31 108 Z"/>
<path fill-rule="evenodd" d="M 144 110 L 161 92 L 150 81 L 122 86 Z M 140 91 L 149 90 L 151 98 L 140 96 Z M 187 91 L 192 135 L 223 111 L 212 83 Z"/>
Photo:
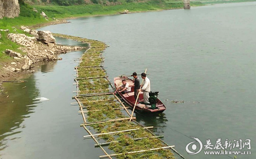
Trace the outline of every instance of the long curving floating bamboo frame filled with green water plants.
<path fill-rule="evenodd" d="M 131 116 L 128 107 L 113 93 L 114 87 L 102 66 L 102 53 L 107 47 L 105 43 L 63 34 L 54 36 L 87 43 L 90 46 L 81 56 L 79 65 L 75 67 L 74 81 L 77 89 L 73 99 L 76 102 L 71 104 L 79 106 L 79 113 L 83 118 L 80 126 L 88 133 L 84 138 L 92 138 L 96 142 L 95 147 L 101 148 L 105 153 L 99 158 L 175 159 L 175 152 L 185 159 L 174 146 L 169 146 L 160 139 L 163 136 L 154 135 L 150 131 L 152 126 L 145 127 L 138 123 L 136 118 Z M 91 129 L 96 133 L 91 133 Z M 105 142 L 99 143 L 99 139 Z M 105 150 L 102 145 L 107 145 L 109 150 Z"/>

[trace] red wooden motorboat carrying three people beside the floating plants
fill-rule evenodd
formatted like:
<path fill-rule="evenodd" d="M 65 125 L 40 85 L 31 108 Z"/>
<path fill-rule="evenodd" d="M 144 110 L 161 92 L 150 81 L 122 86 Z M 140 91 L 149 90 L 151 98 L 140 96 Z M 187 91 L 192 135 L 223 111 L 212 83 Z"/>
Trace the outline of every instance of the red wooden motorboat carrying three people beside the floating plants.
<path fill-rule="evenodd" d="M 134 85 L 133 80 L 131 80 L 128 77 L 115 77 L 114 78 L 115 87 L 118 88 L 120 85 L 122 85 L 122 80 L 124 80 L 124 79 L 125 79 L 126 82 L 129 83 L 129 85 Z M 134 87 L 131 87 L 131 92 L 130 93 L 122 94 L 119 91 L 117 91 L 117 93 L 119 94 L 120 97 L 122 97 L 122 99 L 128 105 L 130 105 L 132 108 L 134 108 L 134 104 L 135 104 L 135 101 L 136 101 L 136 99 L 134 98 Z M 143 92 L 140 92 L 139 98 L 140 98 L 140 101 L 137 102 L 137 105 L 135 107 L 135 109 L 137 111 L 143 111 L 145 113 L 162 113 L 163 111 L 166 110 L 166 106 L 158 98 L 157 98 L 155 109 L 153 109 L 153 107 L 152 108 L 151 107 L 145 107 L 144 104 L 139 103 L 139 102 L 143 102 Z"/>

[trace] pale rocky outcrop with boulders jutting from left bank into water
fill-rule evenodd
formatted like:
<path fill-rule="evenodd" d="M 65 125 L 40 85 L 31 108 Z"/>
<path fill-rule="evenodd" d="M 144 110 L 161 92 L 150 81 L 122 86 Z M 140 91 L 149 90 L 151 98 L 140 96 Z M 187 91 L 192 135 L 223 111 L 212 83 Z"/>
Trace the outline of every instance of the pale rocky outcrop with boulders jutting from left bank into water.
<path fill-rule="evenodd" d="M 55 38 L 49 31 L 36 31 L 22 26 L 23 31 L 28 31 L 34 37 L 28 37 L 25 34 L 8 34 L 8 38 L 13 42 L 22 45 L 19 49 L 26 52 L 22 56 L 20 53 L 6 49 L 5 53 L 10 57 L 14 57 L 16 62 L 11 62 L 11 65 L 5 69 L 12 72 L 20 70 L 29 70 L 32 65 L 40 61 L 58 60 L 57 55 L 67 53 L 67 51 L 75 51 L 84 49 L 80 46 L 64 46 L 55 43 Z"/>

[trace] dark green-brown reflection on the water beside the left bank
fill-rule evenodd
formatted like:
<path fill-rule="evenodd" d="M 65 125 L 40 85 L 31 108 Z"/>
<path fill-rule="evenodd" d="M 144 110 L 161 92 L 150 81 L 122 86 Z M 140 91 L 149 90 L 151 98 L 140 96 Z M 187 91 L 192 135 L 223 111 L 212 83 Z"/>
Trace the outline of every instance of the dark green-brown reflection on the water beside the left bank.
<path fill-rule="evenodd" d="M 17 128 L 25 128 L 22 124 L 25 118 L 33 113 L 35 105 L 38 103 L 33 99 L 38 97 L 39 90 L 35 86 L 35 76 L 31 75 L 23 78 L 25 82 L 7 82 L 6 94 L 0 97 L 0 150 L 6 148 L 5 138 L 20 133 Z M 25 87 L 25 88 L 24 88 Z M 9 96 L 8 98 L 6 98 Z M 10 138 L 15 139 L 15 138 Z"/>

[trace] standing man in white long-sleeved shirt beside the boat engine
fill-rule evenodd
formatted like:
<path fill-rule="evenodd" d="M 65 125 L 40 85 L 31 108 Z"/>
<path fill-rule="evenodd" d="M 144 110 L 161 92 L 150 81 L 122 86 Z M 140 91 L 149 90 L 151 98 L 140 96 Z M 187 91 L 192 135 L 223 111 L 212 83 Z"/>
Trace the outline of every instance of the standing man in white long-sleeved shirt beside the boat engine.
<path fill-rule="evenodd" d="M 144 80 L 143 81 L 143 87 L 139 89 L 139 91 L 143 91 L 143 99 L 144 103 L 149 103 L 148 98 L 149 98 L 149 92 L 150 92 L 150 80 L 146 76 L 145 73 L 141 74 L 141 78 Z M 146 107 L 151 107 L 150 105 L 145 105 Z"/>

